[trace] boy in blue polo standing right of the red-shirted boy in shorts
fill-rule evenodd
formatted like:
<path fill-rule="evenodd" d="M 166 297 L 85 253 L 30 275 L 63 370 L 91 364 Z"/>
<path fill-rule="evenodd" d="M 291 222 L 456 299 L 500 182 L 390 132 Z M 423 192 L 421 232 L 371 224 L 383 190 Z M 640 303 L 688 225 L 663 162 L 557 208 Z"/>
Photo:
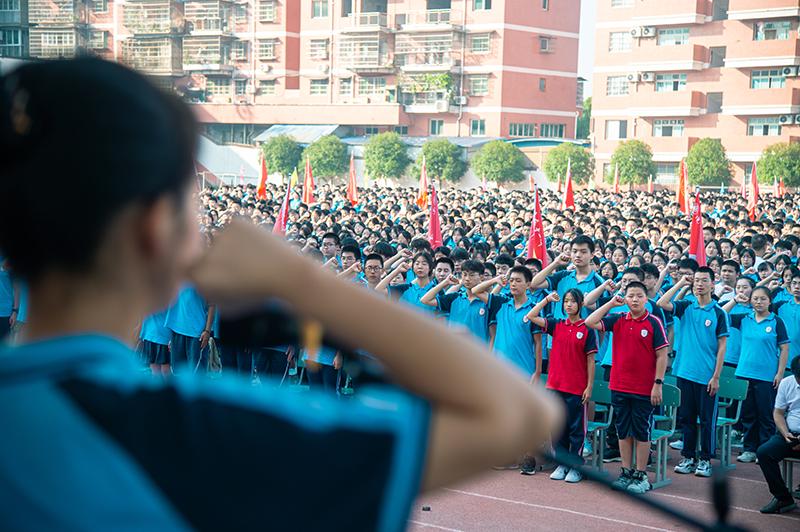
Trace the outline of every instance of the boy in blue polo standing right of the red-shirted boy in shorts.
<path fill-rule="evenodd" d="M 673 368 L 681 390 L 680 425 L 683 432 L 683 460 L 675 472 L 711 476 L 711 457 L 716 451 L 717 390 L 725 361 L 728 315 L 711 299 L 714 272 L 701 266 L 694 274 L 695 301 L 672 301 L 673 296 L 689 286 L 682 277 L 661 296 L 658 305 L 681 320 L 680 364 Z M 676 333 L 677 334 L 677 333 Z M 700 421 L 700 452 L 696 451 L 697 422 Z"/>

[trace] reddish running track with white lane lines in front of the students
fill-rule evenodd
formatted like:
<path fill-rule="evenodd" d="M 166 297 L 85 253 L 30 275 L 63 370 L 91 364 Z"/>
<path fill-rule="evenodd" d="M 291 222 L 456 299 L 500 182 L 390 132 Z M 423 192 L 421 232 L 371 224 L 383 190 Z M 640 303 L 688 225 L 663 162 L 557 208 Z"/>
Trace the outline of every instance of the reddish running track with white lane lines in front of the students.
<path fill-rule="evenodd" d="M 714 519 L 711 479 L 672 472 L 679 457 L 671 451 L 671 458 L 672 484 L 647 496 L 674 504 L 706 521 Z M 618 473 L 619 463 L 605 465 L 607 471 Z M 519 471 L 491 471 L 465 484 L 425 495 L 413 508 L 409 530 L 687 530 L 682 523 L 590 481 L 567 484 L 550 480 L 549 475 L 550 470 L 531 477 L 520 475 Z M 753 531 L 800 531 L 800 509 L 783 515 L 759 513 L 758 509 L 771 497 L 758 465 L 737 464 L 728 478 L 732 495 L 730 522 Z M 800 478 L 800 467 L 794 478 Z M 423 506 L 430 506 L 430 511 L 422 511 Z"/>

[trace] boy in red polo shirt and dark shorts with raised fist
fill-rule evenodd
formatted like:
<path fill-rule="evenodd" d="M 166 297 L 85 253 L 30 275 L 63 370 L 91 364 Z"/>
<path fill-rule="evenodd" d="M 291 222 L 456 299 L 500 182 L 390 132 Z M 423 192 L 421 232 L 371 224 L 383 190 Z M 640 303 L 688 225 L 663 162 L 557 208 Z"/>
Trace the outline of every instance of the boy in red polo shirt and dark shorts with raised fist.
<path fill-rule="evenodd" d="M 634 493 L 650 489 L 647 460 L 654 407 L 661 404 L 667 369 L 667 334 L 664 325 L 646 308 L 647 288 L 639 281 L 628 284 L 625 296 L 616 294 L 586 318 L 586 326 L 613 332 L 615 357 L 609 388 L 619 436 L 622 471 L 614 485 Z M 623 304 L 627 314 L 609 316 Z M 636 458 L 636 469 L 633 459 Z"/>

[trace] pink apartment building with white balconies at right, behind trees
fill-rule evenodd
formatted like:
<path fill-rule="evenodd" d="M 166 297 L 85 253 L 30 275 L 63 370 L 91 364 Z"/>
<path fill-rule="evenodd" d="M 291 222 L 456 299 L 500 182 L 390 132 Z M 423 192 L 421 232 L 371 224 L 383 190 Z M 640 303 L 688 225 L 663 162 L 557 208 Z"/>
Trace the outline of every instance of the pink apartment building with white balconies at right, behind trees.
<path fill-rule="evenodd" d="M 736 181 L 767 146 L 800 141 L 800 0 L 598 1 L 598 180 L 626 139 L 652 147 L 663 184 L 704 137 L 722 140 Z"/>

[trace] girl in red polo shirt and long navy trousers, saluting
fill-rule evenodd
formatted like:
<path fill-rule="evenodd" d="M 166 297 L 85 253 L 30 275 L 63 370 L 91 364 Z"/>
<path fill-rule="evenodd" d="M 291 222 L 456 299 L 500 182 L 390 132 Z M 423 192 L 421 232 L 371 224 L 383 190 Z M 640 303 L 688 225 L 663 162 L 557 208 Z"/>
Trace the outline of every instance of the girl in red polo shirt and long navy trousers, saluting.
<path fill-rule="evenodd" d="M 555 320 L 539 316 L 545 306 L 559 301 L 567 315 L 566 319 Z M 528 313 L 528 319 L 534 325 L 553 337 L 547 388 L 558 394 L 567 411 L 567 424 L 557 445 L 581 462 L 586 434 L 586 407 L 592 398 L 594 354 L 597 352 L 597 334 L 586 327 L 581 318 L 582 308 L 583 293 L 577 288 L 570 288 L 564 294 L 563 300 L 558 293 L 550 292 Z M 550 478 L 575 483 L 580 482 L 583 475 L 577 469 L 558 466 Z"/>

